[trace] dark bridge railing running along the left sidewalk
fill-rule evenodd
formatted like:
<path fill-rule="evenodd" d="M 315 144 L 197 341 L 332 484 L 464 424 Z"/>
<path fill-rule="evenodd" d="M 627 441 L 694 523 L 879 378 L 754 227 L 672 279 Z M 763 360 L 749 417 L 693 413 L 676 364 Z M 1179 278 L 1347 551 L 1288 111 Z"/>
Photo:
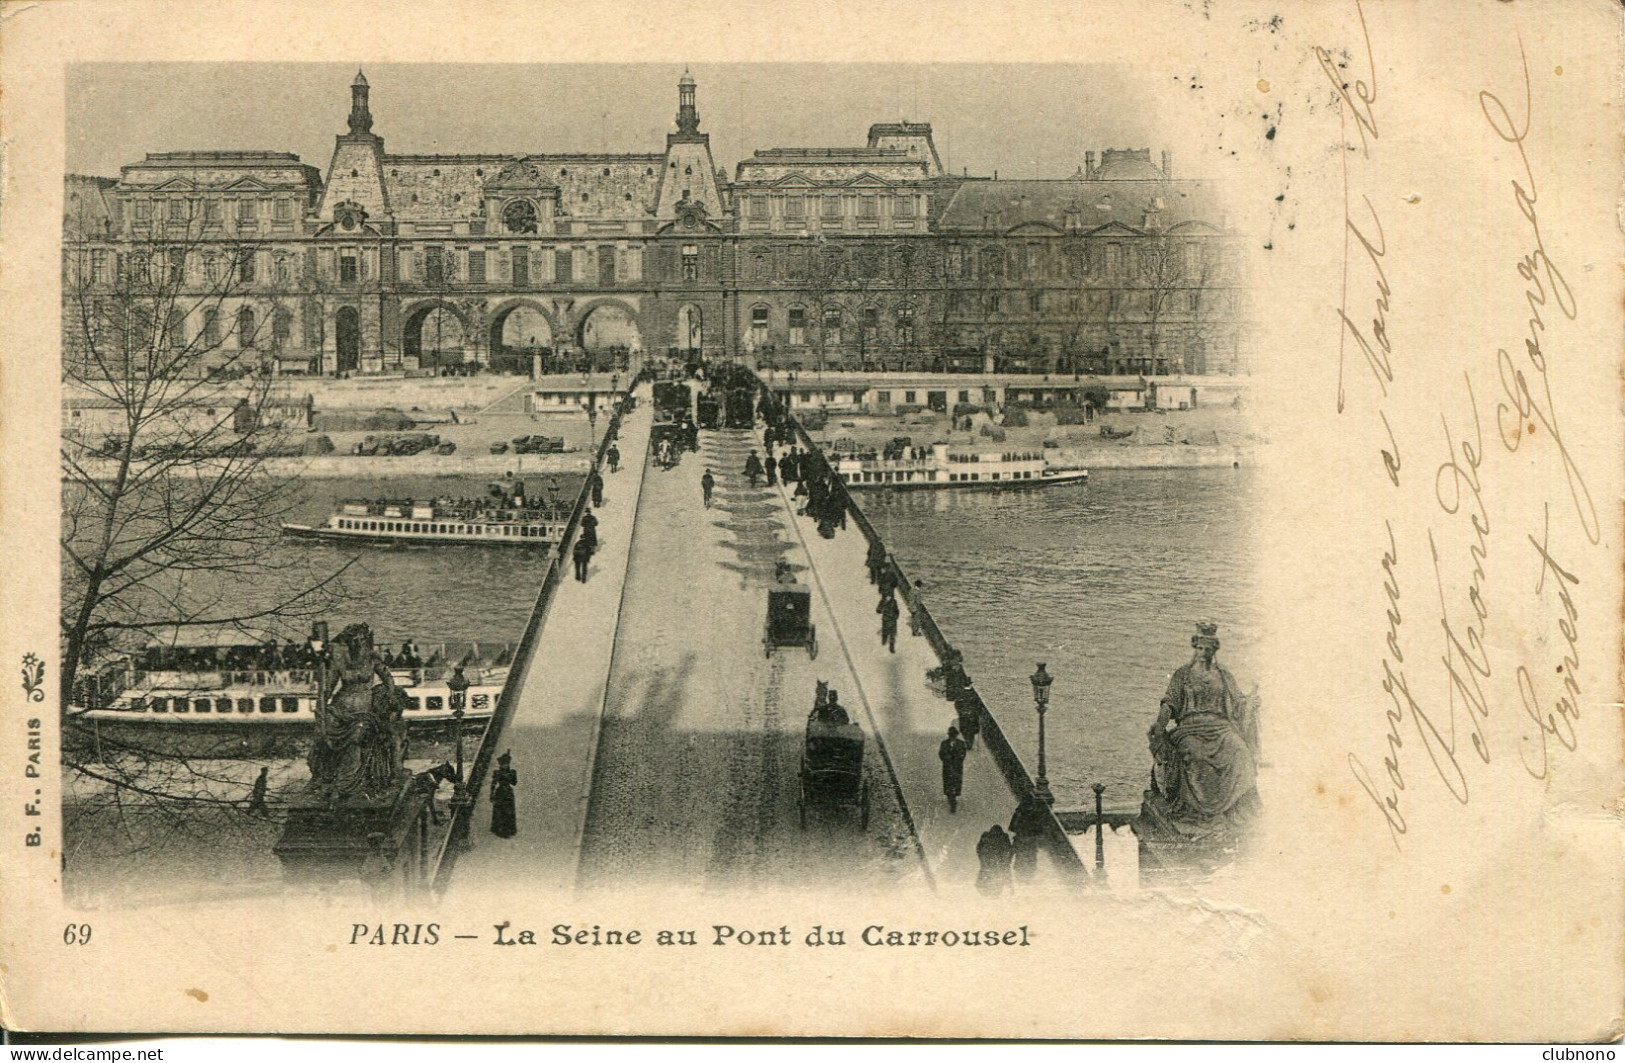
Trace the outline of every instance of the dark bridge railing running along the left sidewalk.
<path fill-rule="evenodd" d="M 598 449 L 593 452 L 592 468 L 582 479 L 582 489 L 577 492 L 575 504 L 570 507 L 570 518 L 566 522 L 564 532 L 559 536 L 559 546 L 552 551 L 552 558 L 548 561 L 548 574 L 541 580 L 541 590 L 536 593 L 536 605 L 530 610 L 530 619 L 525 623 L 525 634 L 520 636 L 518 649 L 514 652 L 514 665 L 509 668 L 507 683 L 502 684 L 502 694 L 497 697 L 496 712 L 491 714 L 491 722 L 486 723 L 486 730 L 481 731 L 473 766 L 468 769 L 468 780 L 462 787 L 460 798 L 453 800 L 450 831 L 447 831 L 439 852 L 434 853 L 434 860 L 431 861 L 432 866 L 427 868 L 427 874 L 431 874 L 434 881 L 436 894 L 445 891 L 445 886 L 452 878 L 452 870 L 457 865 L 457 857 L 466 847 L 468 832 L 473 826 L 474 808 L 479 806 L 479 793 L 486 785 L 486 777 L 491 774 L 491 764 L 496 761 L 497 746 L 502 744 L 502 736 L 507 733 L 507 727 L 518 707 L 518 692 L 525 688 L 525 676 L 530 673 L 531 662 L 536 657 L 536 642 L 541 639 L 541 631 L 548 623 L 548 613 L 552 611 L 552 600 L 557 595 L 559 584 L 564 582 L 564 566 L 569 549 L 582 530 L 582 517 L 592 505 L 592 473 L 603 466 L 604 453 L 609 450 L 609 445 L 614 442 L 616 434 L 621 429 L 621 418 L 637 401 L 632 395 L 635 384 L 637 380 L 629 385 L 627 393 L 616 403 L 614 411 L 609 414 L 603 437 L 598 440 Z"/>

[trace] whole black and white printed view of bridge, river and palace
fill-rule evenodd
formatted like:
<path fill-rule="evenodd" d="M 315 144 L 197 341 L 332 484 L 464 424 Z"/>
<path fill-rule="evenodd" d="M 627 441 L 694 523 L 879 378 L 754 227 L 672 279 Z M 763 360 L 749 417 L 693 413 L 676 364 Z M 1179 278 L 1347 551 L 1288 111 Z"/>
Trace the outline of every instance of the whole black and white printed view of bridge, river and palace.
<path fill-rule="evenodd" d="M 70 899 L 1240 853 L 1264 440 L 1222 187 L 1131 72 L 826 73 L 73 72 L 109 163 L 65 187 Z M 197 102 L 270 85 L 310 106 Z M 325 166 L 247 150 L 323 106 Z"/>

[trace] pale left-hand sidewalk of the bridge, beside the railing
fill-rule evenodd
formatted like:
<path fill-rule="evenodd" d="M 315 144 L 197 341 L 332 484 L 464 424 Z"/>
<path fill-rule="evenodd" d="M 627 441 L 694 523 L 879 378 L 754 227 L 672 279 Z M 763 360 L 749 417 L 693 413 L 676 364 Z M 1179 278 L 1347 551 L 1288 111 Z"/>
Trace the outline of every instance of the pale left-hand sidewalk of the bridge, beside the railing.
<path fill-rule="evenodd" d="M 489 889 L 523 883 L 536 894 L 569 896 L 575 887 L 588 769 L 604 686 L 621 624 L 627 558 L 648 468 L 653 405 L 648 387 L 621 424 L 621 471 L 604 468 L 604 504 L 596 509 L 598 553 L 585 584 L 566 579 L 554 597 L 518 704 L 497 749 L 514 754 L 518 834 L 491 834 L 489 787 L 474 809 L 473 848 L 458 857 L 452 889 Z"/>

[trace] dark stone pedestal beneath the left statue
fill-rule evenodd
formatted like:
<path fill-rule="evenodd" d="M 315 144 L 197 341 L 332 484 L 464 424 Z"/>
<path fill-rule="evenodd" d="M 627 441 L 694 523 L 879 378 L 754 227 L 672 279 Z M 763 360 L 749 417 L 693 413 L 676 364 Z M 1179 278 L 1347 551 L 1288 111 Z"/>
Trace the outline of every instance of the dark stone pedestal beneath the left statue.
<path fill-rule="evenodd" d="M 271 847 L 283 861 L 283 876 L 289 883 L 320 884 L 364 879 L 369 860 L 374 871 L 401 868 L 401 857 L 413 855 L 424 811 L 408 779 L 410 774 L 401 772 L 401 787 L 390 798 L 348 800 L 333 806 L 315 796 L 294 801 L 283 835 Z"/>

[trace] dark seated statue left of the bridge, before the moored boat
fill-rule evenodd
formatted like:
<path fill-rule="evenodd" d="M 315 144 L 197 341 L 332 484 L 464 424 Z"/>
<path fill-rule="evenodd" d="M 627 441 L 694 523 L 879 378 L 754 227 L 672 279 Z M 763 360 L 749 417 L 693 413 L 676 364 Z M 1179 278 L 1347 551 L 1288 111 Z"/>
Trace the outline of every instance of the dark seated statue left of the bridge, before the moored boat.
<path fill-rule="evenodd" d="M 310 785 L 330 806 L 385 800 L 401 785 L 406 723 L 390 670 L 374 653 L 372 631 L 351 624 L 332 642 L 332 692 L 318 705 Z M 377 683 L 374 683 L 377 679 Z"/>

